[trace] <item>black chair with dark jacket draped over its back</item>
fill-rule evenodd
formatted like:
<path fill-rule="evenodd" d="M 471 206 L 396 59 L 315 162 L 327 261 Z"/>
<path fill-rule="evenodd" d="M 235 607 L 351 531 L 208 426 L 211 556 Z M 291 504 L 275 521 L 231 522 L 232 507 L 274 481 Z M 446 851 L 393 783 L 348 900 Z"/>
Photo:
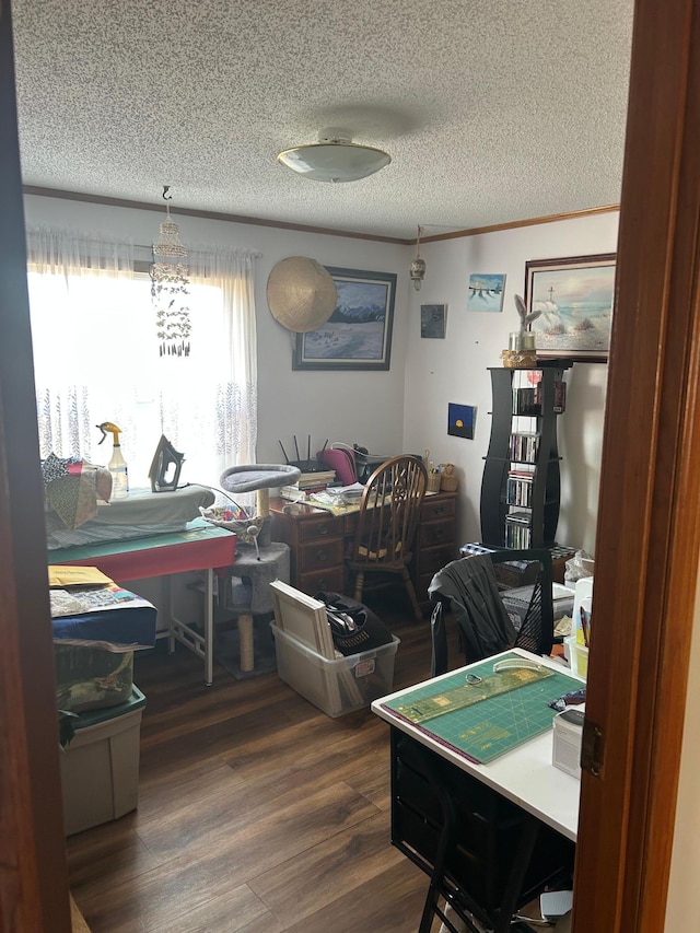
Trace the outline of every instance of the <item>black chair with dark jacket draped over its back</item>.
<path fill-rule="evenodd" d="M 499 587 L 494 564 L 526 561 L 539 564 L 524 618 L 509 614 Z M 511 648 L 534 654 L 550 654 L 555 642 L 551 595 L 551 553 L 542 550 L 504 549 L 454 560 L 439 570 L 428 587 L 435 604 L 431 616 L 432 676 L 448 665 L 445 615 L 452 613 L 459 626 L 466 663 L 481 661 Z"/>

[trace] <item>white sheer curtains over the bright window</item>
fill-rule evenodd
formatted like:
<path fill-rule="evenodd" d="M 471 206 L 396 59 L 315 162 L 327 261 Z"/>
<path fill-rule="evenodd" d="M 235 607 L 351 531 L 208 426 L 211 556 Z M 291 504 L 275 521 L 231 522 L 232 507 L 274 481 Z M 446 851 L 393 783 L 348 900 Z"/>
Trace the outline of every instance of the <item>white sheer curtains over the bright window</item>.
<path fill-rule="evenodd" d="M 122 429 L 132 489 L 148 487 L 161 434 L 185 454 L 180 482 L 218 487 L 255 462 L 257 254 L 199 247 L 190 266 L 191 352 L 160 357 L 150 280 L 129 243 L 30 230 L 28 283 L 40 454 L 104 464 L 96 425 Z"/>

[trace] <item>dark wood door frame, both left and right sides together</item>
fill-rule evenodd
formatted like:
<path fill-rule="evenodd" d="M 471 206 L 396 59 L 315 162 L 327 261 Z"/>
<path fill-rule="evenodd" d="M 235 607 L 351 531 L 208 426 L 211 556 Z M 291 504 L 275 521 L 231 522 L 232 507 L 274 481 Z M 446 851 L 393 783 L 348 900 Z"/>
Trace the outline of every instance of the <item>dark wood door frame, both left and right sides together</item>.
<path fill-rule="evenodd" d="M 3 128 L 16 127 L 9 15 L 0 0 Z M 664 926 L 700 549 L 699 23 L 700 0 L 637 2 L 587 704 L 605 758 L 600 777 L 582 781 L 578 933 Z M 9 136 L 0 135 L 0 931 L 60 933 L 70 920 Z"/>

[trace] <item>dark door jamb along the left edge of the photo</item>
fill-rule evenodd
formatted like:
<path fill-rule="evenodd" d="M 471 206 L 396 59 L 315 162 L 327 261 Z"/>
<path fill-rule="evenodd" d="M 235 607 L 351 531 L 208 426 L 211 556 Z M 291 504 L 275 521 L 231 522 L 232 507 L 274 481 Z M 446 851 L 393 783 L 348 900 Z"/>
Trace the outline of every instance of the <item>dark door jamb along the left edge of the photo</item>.
<path fill-rule="evenodd" d="M 71 929 L 10 5 L 0 0 L 0 933 Z"/>

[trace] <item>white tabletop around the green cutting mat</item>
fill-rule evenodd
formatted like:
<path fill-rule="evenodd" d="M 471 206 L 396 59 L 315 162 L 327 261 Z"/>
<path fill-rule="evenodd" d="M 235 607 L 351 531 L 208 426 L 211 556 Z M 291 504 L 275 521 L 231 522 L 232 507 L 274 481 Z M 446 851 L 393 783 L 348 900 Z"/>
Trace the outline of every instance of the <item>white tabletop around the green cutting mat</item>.
<path fill-rule="evenodd" d="M 539 657 L 522 649 L 504 654 L 516 653 L 530 661 L 536 661 L 547 667 L 552 667 L 560 673 L 570 674 L 568 668 L 551 658 Z M 502 655 L 494 655 L 498 661 Z M 482 663 L 482 662 L 479 662 Z M 476 665 L 469 665 L 476 666 Z M 469 666 L 463 668 L 465 673 Z M 579 796 L 581 782 L 564 771 L 560 771 L 551 763 L 552 732 L 546 732 L 529 742 L 506 751 L 490 765 L 477 765 L 457 750 L 448 748 L 436 742 L 424 731 L 417 728 L 412 723 L 393 713 L 383 705 L 389 700 L 395 700 L 406 693 L 410 693 L 417 686 L 439 684 L 448 677 L 453 677 L 455 670 L 425 680 L 421 685 L 415 685 L 406 690 L 398 690 L 387 697 L 382 697 L 372 703 L 372 712 L 392 726 L 400 730 L 407 735 L 430 748 L 441 758 L 452 761 L 463 771 L 477 778 L 482 783 L 492 788 L 502 796 L 521 806 L 527 813 L 536 816 L 541 823 L 560 832 L 567 839 L 575 841 L 579 825 Z M 581 680 L 583 685 L 585 681 Z"/>

